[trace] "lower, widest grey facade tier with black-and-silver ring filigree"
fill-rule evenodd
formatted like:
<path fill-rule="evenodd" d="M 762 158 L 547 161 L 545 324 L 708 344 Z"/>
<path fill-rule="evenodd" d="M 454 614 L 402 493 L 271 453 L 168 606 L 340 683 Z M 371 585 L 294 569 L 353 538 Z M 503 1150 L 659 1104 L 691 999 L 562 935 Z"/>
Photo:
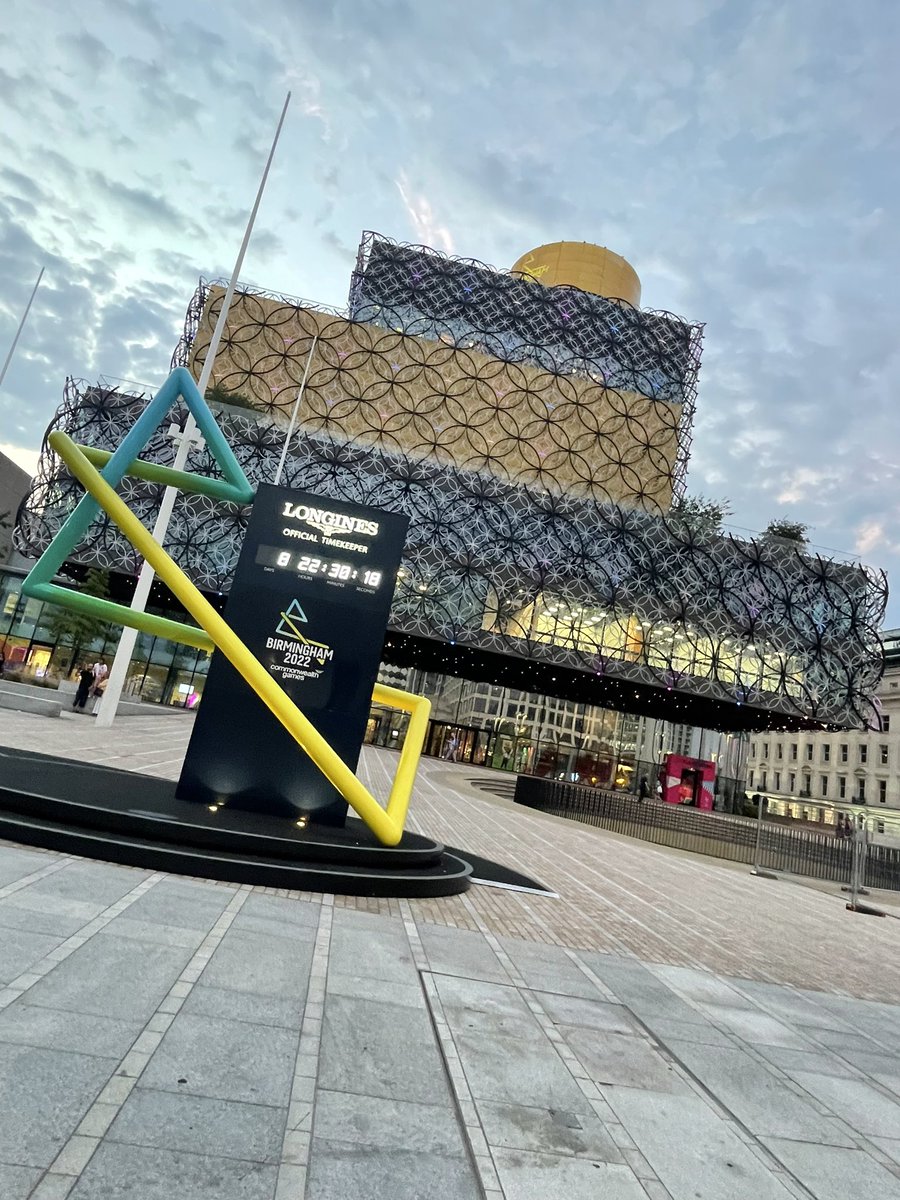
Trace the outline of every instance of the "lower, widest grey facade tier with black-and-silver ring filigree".
<path fill-rule="evenodd" d="M 144 397 L 70 382 L 52 428 L 113 449 Z M 262 414 L 220 408 L 254 482 L 272 480 L 284 430 Z M 172 462 L 161 432 L 146 457 Z M 188 469 L 211 473 L 203 449 Z M 410 517 L 391 629 L 607 684 L 704 701 L 719 727 L 862 724 L 881 673 L 883 576 L 766 541 L 698 539 L 665 518 L 612 503 L 512 485 L 404 454 L 307 432 L 292 443 L 282 482 Z M 50 456 L 22 514 L 20 546 L 38 553 L 78 499 Z M 122 494 L 151 524 L 160 488 L 126 480 Z M 167 547 L 208 592 L 227 592 L 246 511 L 180 498 Z M 79 559 L 134 571 L 130 545 L 97 522 Z M 606 689 L 606 690 L 605 690 Z M 700 712 L 701 709 L 696 709 Z"/>

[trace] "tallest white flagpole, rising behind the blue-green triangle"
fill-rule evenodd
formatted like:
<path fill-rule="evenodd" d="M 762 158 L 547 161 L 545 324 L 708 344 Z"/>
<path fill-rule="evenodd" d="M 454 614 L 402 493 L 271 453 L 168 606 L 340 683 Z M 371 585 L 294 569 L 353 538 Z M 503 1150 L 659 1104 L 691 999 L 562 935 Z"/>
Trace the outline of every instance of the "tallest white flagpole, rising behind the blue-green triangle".
<path fill-rule="evenodd" d="M 265 162 L 265 168 L 263 170 L 263 178 L 259 180 L 259 187 L 257 190 L 257 198 L 253 202 L 253 209 L 250 214 L 250 220 L 247 221 L 247 228 L 244 232 L 244 240 L 241 241 L 241 247 L 238 251 L 238 258 L 234 263 L 234 270 L 232 271 L 232 278 L 226 289 L 226 294 L 222 299 L 222 310 L 218 314 L 218 320 L 216 322 L 216 328 L 212 332 L 212 341 L 209 343 L 209 349 L 206 350 L 206 360 L 203 364 L 203 371 L 200 372 L 200 378 L 197 382 L 197 386 L 202 396 L 206 395 L 206 386 L 209 385 L 210 377 L 212 374 L 212 367 L 216 361 L 216 354 L 218 352 L 218 343 L 222 340 L 222 332 L 224 330 L 226 320 L 228 318 L 228 310 L 232 305 L 232 296 L 234 295 L 234 289 L 238 283 L 238 276 L 240 275 L 241 266 L 244 265 L 244 256 L 247 252 L 247 246 L 250 245 L 250 238 L 253 233 L 253 223 L 257 218 L 257 212 L 259 210 L 259 203 L 263 199 L 263 192 L 265 191 L 265 184 L 269 179 L 269 168 L 272 164 L 272 158 L 275 157 L 275 149 L 278 145 L 278 138 L 281 137 L 281 127 L 284 124 L 284 116 L 288 112 L 288 104 L 290 103 L 290 92 L 284 97 L 284 107 L 281 110 L 281 116 L 278 118 L 278 125 L 275 130 L 275 137 L 272 139 L 272 145 L 269 151 L 269 157 Z M 185 421 L 185 427 L 178 432 L 175 436 L 178 442 L 178 451 L 175 454 L 175 461 L 173 462 L 174 470 L 184 470 L 187 462 L 187 455 L 191 451 L 191 446 L 197 444 L 197 422 L 191 413 L 187 414 L 187 420 Z M 162 503 L 160 504 L 160 512 L 156 517 L 156 524 L 154 526 L 154 540 L 161 546 L 166 540 L 166 533 L 169 527 L 169 521 L 172 520 L 172 511 L 175 506 L 175 498 L 178 496 L 178 488 L 167 487 L 163 492 Z M 150 564 L 144 560 L 138 575 L 138 582 L 134 588 L 134 595 L 131 600 L 132 610 L 137 612 L 144 612 L 146 607 L 148 596 L 150 595 L 150 587 L 154 582 L 154 569 Z M 126 628 L 122 630 L 122 635 L 119 638 L 119 646 L 115 650 L 115 658 L 113 659 L 113 667 L 109 672 L 109 679 L 107 682 L 106 691 L 103 692 L 103 700 L 100 704 L 100 712 L 97 713 L 97 725 L 110 726 L 115 720 L 115 714 L 119 708 L 119 700 L 122 694 L 122 688 L 125 686 L 125 679 L 128 673 L 128 666 L 131 665 L 131 658 L 134 653 L 134 643 L 138 638 L 138 631 L 136 629 Z"/>

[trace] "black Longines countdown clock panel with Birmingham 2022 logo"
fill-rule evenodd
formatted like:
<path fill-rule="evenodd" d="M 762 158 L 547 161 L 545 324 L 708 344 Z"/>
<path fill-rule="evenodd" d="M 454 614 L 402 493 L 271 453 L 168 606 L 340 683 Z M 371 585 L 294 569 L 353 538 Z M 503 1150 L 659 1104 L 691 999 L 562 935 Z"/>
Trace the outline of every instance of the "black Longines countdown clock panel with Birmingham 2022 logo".
<path fill-rule="evenodd" d="M 260 485 L 224 618 L 355 770 L 408 518 Z M 218 652 L 176 794 L 343 824 L 347 804 Z"/>

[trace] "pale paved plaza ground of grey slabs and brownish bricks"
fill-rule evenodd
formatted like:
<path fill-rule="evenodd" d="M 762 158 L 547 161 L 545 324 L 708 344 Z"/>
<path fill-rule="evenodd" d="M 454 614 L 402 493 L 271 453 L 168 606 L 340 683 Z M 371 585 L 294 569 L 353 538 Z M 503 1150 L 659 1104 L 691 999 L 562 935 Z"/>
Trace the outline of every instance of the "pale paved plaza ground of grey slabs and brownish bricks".
<path fill-rule="evenodd" d="M 175 776 L 191 720 L 2 712 L 0 743 Z M 395 764 L 362 773 L 384 793 Z M 412 828 L 558 895 L 344 899 L 0 844 L 0 1198 L 900 1200 L 895 917 L 497 778 L 425 761 Z"/>

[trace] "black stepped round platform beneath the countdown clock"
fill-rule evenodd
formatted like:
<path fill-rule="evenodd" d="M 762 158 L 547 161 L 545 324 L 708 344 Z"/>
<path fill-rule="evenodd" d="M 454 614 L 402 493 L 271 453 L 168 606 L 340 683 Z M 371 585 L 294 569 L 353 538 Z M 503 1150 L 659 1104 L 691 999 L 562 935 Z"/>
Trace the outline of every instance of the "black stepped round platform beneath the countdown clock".
<path fill-rule="evenodd" d="M 0 838 L 233 883 L 365 896 L 464 892 L 484 882 L 545 890 L 498 864 L 404 833 L 382 846 L 355 818 L 298 828 L 287 818 L 175 798 L 175 782 L 0 748 Z"/>

